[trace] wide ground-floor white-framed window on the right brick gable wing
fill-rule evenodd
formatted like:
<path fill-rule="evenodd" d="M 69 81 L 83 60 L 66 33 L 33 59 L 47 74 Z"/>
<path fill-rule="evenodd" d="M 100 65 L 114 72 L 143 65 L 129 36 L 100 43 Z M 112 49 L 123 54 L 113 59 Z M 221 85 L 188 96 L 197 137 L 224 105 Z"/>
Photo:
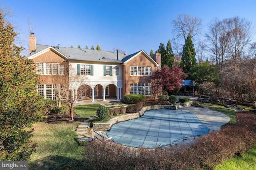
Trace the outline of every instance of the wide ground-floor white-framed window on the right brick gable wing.
<path fill-rule="evenodd" d="M 151 83 L 131 83 L 130 94 L 151 95 Z"/>

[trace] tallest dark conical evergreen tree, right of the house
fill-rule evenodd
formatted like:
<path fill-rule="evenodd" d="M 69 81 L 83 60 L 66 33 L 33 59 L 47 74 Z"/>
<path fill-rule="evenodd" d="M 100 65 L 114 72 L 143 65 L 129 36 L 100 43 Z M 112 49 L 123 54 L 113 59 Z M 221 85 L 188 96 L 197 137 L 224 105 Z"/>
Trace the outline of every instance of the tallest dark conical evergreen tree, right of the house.
<path fill-rule="evenodd" d="M 194 44 L 192 43 L 191 35 L 188 35 L 185 44 L 183 45 L 182 57 L 180 67 L 183 72 L 188 73 L 190 69 L 196 64 L 196 52 Z"/>

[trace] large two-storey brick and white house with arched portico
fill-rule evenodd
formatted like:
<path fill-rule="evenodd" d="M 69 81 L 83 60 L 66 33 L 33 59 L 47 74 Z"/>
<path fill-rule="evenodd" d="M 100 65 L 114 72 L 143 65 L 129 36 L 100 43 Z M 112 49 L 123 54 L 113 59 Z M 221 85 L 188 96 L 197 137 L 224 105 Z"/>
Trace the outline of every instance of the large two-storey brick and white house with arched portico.
<path fill-rule="evenodd" d="M 69 63 L 69 81 L 72 75 L 85 77 L 76 81 L 70 89 L 78 90 L 81 86 L 89 86 L 81 98 L 117 98 L 122 100 L 126 94 L 152 95 L 150 82 L 152 72 L 161 66 L 161 54 L 151 58 L 141 50 L 134 54 L 122 54 L 110 51 L 98 51 L 72 47 L 48 46 L 36 44 L 36 37 L 29 36 L 30 56 L 41 74 L 37 91 L 48 99 L 56 99 L 53 81 L 56 76 L 64 78 L 65 64 Z M 157 61 L 157 62 L 156 62 Z"/>

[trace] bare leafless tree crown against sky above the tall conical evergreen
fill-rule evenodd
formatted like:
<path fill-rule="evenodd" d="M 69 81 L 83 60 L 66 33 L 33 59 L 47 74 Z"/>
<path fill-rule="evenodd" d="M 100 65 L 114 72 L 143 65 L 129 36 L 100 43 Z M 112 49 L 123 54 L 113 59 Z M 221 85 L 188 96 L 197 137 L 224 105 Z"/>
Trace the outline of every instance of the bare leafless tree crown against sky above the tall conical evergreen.
<path fill-rule="evenodd" d="M 172 20 L 174 29 L 172 32 L 176 34 L 176 38 L 183 37 L 186 40 L 190 35 L 192 38 L 200 34 L 202 29 L 202 20 L 197 17 L 190 17 L 188 14 L 179 14 L 176 20 Z"/>

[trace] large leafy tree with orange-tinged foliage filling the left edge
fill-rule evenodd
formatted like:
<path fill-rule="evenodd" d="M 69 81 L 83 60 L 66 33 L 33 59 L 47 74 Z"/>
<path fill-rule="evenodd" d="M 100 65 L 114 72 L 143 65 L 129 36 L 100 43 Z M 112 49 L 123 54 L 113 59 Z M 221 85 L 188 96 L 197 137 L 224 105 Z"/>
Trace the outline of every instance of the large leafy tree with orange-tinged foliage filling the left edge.
<path fill-rule="evenodd" d="M 35 63 L 22 57 L 17 33 L 0 11 L 0 160 L 28 160 L 35 152 L 33 124 L 44 117 L 44 99 L 36 92 Z M 46 111 L 47 112 L 47 111 Z"/>

